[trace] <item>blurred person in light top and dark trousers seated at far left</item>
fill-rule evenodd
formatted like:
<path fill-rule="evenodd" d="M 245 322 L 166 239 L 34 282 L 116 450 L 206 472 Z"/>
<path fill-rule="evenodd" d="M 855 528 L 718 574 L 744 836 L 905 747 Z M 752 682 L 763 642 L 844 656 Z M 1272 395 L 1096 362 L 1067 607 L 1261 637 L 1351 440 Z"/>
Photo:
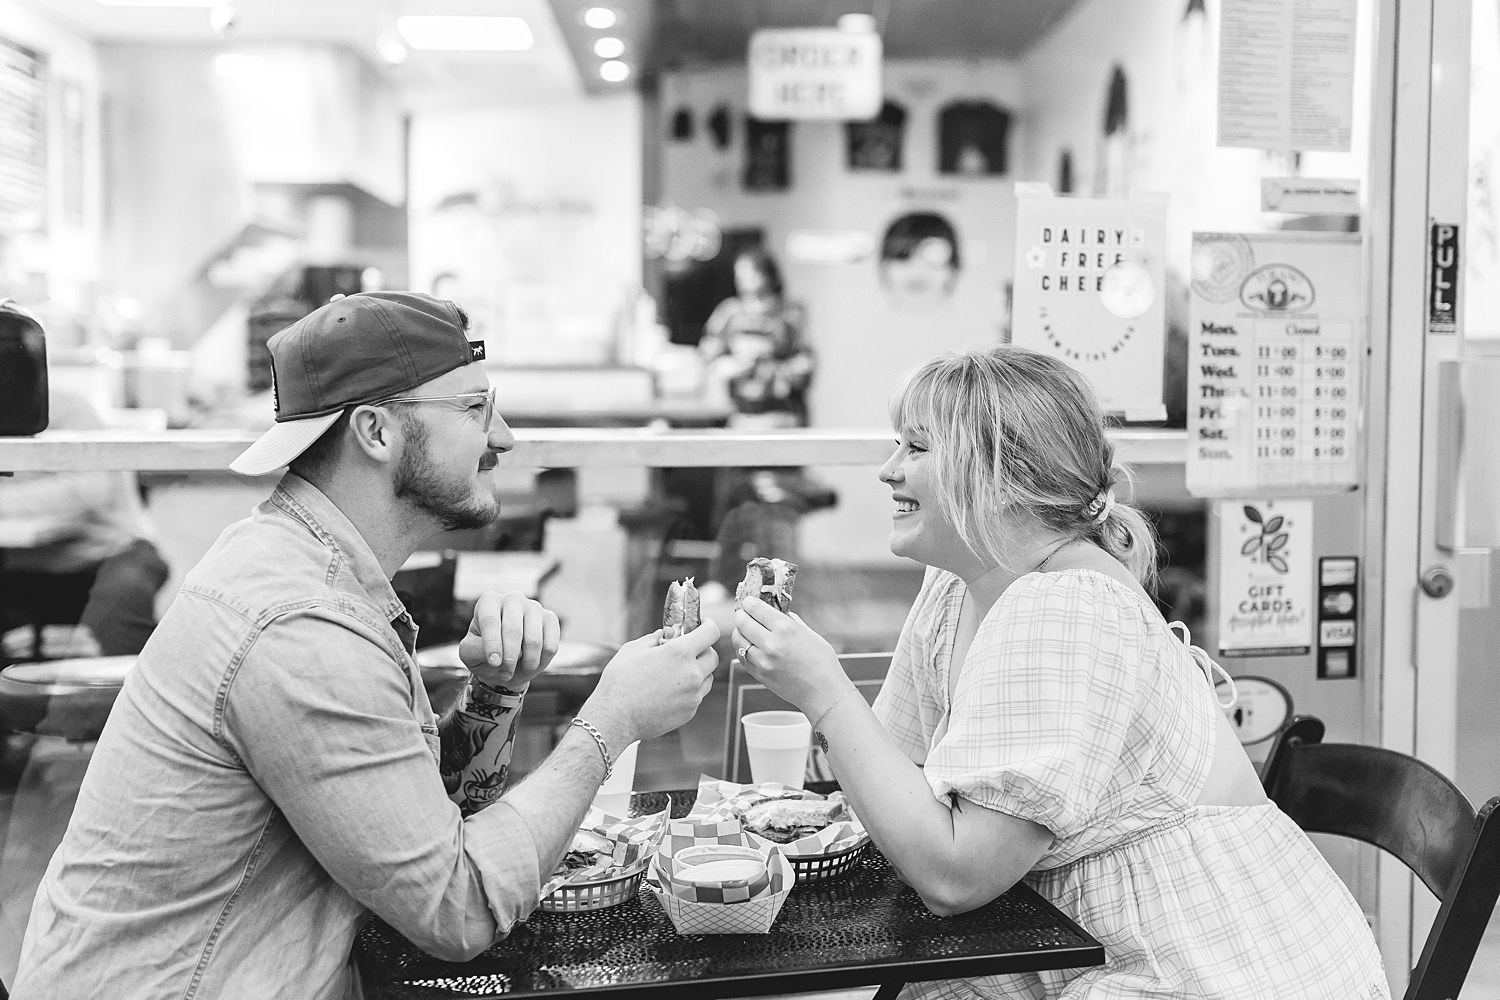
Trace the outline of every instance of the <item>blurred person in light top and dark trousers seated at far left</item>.
<path fill-rule="evenodd" d="M 105 426 L 82 396 L 52 387 L 48 426 Z M 84 634 L 68 655 L 141 652 L 156 627 L 156 595 L 168 567 L 130 472 L 16 472 L 0 477 L 0 520 L 62 526 L 62 537 L 28 549 L 0 550 L 0 664 L 8 649 L 30 658 L 33 624 L 74 624 Z M 21 633 L 12 630 L 22 628 Z M 58 655 L 57 651 L 42 651 Z"/>

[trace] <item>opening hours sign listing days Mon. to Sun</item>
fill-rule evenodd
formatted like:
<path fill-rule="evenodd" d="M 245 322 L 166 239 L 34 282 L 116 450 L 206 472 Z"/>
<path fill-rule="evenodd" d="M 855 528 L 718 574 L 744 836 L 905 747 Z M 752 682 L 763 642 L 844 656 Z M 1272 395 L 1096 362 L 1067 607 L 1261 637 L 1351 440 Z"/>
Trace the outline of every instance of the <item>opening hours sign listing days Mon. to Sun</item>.
<path fill-rule="evenodd" d="M 1359 484 L 1359 255 L 1354 234 L 1192 234 L 1191 493 Z"/>

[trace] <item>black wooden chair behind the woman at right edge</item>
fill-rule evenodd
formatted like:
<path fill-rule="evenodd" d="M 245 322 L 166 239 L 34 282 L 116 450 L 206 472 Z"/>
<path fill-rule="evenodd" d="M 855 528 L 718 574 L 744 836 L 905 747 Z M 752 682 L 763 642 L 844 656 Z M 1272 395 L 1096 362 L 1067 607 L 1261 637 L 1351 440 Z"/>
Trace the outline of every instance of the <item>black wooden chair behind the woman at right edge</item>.
<path fill-rule="evenodd" d="M 1281 732 L 1262 783 L 1302 829 L 1390 852 L 1442 903 L 1406 1000 L 1458 996 L 1500 895 L 1500 796 L 1474 813 L 1458 787 L 1416 757 L 1324 744 L 1323 723 L 1299 715 Z"/>

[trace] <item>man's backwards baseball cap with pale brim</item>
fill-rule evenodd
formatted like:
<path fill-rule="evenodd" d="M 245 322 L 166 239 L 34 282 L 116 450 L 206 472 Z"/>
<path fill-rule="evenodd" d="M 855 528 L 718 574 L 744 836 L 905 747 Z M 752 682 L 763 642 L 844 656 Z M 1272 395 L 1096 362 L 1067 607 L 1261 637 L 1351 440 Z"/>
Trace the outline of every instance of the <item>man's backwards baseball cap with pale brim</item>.
<path fill-rule="evenodd" d="M 267 345 L 276 423 L 230 468 L 264 475 L 306 451 L 346 406 L 375 403 L 453 369 L 484 360 L 468 318 L 422 292 L 360 292 L 336 298 Z"/>

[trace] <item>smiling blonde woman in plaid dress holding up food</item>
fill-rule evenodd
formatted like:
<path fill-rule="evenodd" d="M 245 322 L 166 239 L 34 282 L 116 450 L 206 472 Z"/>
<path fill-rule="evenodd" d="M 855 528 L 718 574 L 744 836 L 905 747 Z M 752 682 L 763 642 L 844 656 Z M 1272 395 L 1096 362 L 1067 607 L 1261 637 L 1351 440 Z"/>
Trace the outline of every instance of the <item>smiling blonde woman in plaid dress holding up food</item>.
<path fill-rule="evenodd" d="M 873 711 L 826 640 L 759 600 L 735 613 L 740 658 L 814 720 L 928 909 L 1024 879 L 1106 949 L 1098 969 L 903 996 L 1388 997 L 1358 904 L 1146 594 L 1155 540 L 1114 496 L 1086 381 L 1016 346 L 951 355 L 891 415 L 891 552 L 928 570 Z"/>

